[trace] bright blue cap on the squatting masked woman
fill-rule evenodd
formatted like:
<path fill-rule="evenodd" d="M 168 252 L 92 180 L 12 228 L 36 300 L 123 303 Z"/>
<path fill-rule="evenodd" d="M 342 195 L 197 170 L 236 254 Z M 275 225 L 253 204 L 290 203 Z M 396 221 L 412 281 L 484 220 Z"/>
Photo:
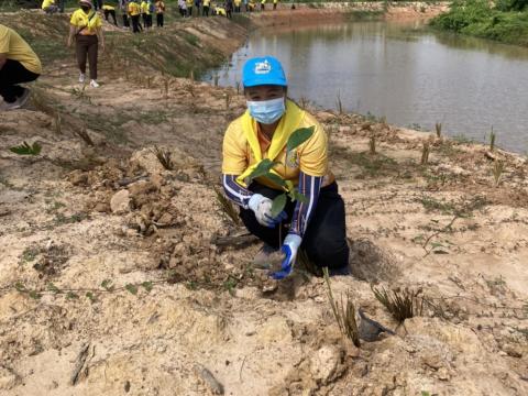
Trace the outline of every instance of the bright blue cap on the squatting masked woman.
<path fill-rule="evenodd" d="M 283 65 L 273 56 L 255 57 L 245 62 L 242 69 L 242 85 L 255 87 L 260 85 L 278 85 L 286 87 Z"/>

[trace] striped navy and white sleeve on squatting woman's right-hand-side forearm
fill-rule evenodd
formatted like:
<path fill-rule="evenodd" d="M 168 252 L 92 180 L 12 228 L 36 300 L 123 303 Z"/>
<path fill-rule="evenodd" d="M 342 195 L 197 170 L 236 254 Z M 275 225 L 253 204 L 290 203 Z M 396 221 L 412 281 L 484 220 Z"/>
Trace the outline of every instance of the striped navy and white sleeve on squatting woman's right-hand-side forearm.
<path fill-rule="evenodd" d="M 302 172 L 300 173 L 298 190 L 308 199 L 308 201 L 306 204 L 297 201 L 289 232 L 296 233 L 299 237 L 305 234 L 308 222 L 316 211 L 321 184 L 322 177 L 309 176 Z"/>

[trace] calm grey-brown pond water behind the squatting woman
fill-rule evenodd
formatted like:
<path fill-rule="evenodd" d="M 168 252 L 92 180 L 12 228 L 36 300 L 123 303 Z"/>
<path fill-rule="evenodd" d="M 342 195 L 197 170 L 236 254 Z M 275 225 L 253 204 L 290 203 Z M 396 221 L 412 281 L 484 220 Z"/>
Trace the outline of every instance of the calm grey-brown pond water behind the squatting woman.
<path fill-rule="evenodd" d="M 235 86 L 248 57 L 274 55 L 288 95 L 387 122 L 528 151 L 528 48 L 426 31 L 419 23 L 352 22 L 258 30 L 206 80 Z"/>

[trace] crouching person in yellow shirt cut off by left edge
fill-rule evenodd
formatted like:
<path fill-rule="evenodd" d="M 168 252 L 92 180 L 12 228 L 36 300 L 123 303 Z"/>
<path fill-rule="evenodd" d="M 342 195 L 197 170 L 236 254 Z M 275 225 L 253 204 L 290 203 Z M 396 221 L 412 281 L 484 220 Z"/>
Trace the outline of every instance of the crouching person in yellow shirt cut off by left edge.
<path fill-rule="evenodd" d="M 41 61 L 30 45 L 15 31 L 0 24 L 0 109 L 24 106 L 30 90 L 19 84 L 34 81 L 41 74 Z"/>

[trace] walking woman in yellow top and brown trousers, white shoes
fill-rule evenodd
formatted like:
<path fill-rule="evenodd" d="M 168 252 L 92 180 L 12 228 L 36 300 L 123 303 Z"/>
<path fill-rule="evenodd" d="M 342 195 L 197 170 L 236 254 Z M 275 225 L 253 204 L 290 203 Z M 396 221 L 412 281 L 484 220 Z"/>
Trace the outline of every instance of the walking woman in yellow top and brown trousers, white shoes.
<path fill-rule="evenodd" d="M 86 78 L 86 58 L 90 64 L 90 86 L 99 87 L 97 84 L 97 55 L 99 42 L 105 51 L 105 37 L 102 35 L 102 21 L 99 14 L 94 11 L 90 0 L 80 0 L 80 9 L 75 11 L 69 21 L 68 47 L 75 38 L 75 52 L 79 65 L 79 82 L 84 84 Z"/>

